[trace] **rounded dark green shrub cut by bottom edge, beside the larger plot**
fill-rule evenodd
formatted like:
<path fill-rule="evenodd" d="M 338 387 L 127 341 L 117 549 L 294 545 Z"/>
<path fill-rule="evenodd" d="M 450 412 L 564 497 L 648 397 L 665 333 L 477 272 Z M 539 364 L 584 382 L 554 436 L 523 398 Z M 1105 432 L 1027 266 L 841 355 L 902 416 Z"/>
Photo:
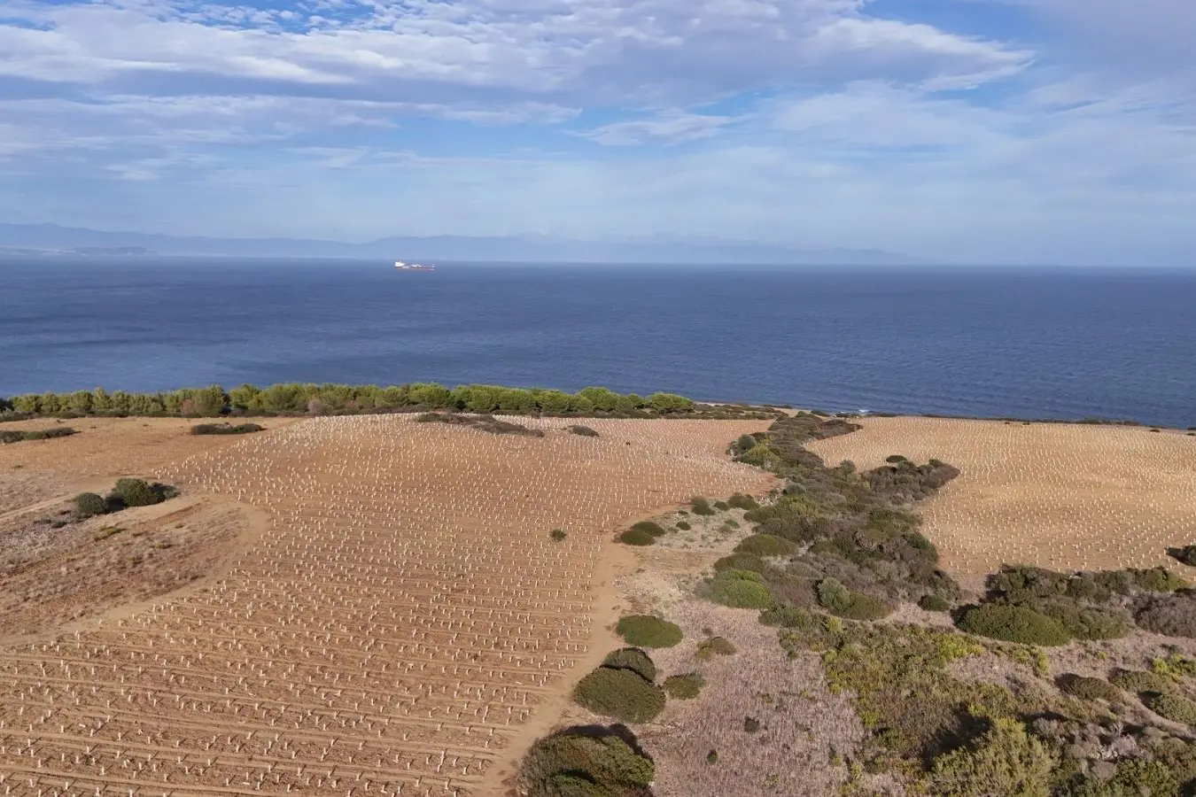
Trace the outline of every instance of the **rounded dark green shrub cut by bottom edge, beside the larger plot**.
<path fill-rule="evenodd" d="M 630 744 L 624 737 L 630 737 Z M 646 797 L 655 767 L 635 744 L 627 729 L 615 728 L 570 728 L 541 738 L 519 767 L 520 793 Z"/>

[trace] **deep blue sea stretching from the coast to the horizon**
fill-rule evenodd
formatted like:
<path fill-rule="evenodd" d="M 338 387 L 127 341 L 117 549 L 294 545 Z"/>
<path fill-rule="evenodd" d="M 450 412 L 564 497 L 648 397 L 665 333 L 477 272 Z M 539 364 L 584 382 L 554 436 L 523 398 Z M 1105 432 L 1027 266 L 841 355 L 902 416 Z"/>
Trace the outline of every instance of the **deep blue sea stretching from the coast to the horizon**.
<path fill-rule="evenodd" d="M 0 259 L 0 396 L 495 382 L 1196 425 L 1196 270 Z"/>

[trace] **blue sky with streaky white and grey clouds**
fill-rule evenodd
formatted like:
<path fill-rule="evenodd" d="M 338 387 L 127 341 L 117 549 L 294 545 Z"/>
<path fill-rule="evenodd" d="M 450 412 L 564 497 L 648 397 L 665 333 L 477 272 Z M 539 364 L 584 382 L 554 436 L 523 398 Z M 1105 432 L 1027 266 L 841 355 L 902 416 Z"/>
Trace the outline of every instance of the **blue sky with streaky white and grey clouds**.
<path fill-rule="evenodd" d="M 0 220 L 1196 264 L 1192 0 L 0 0 Z"/>

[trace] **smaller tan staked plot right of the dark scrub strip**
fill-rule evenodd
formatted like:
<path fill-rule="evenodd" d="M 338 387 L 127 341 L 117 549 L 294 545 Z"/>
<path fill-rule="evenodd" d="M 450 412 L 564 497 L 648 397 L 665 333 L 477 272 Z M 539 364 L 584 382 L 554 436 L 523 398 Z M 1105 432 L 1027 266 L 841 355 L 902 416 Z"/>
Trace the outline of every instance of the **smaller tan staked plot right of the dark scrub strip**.
<path fill-rule="evenodd" d="M 811 443 L 834 465 L 875 467 L 890 454 L 938 458 L 962 476 L 919 505 L 945 565 L 1057 570 L 1167 565 L 1196 542 L 1196 437 L 1142 428 L 941 418 L 866 418 Z"/>

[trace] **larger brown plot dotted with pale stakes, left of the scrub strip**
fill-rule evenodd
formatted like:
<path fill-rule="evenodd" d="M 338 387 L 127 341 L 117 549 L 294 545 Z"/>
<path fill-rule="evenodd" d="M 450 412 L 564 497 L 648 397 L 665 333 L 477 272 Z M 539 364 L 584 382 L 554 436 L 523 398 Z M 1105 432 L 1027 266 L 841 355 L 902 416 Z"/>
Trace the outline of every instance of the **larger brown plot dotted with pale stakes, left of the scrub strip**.
<path fill-rule="evenodd" d="M 513 421 L 548 434 L 321 418 L 150 473 L 269 528 L 208 589 L 0 651 L 0 789 L 498 792 L 588 654 L 603 532 L 771 486 L 725 456 L 762 422 Z"/>

